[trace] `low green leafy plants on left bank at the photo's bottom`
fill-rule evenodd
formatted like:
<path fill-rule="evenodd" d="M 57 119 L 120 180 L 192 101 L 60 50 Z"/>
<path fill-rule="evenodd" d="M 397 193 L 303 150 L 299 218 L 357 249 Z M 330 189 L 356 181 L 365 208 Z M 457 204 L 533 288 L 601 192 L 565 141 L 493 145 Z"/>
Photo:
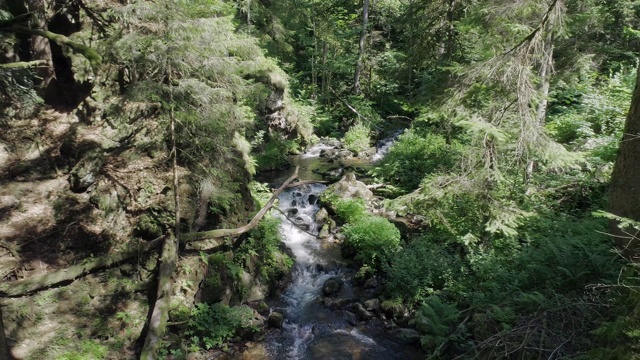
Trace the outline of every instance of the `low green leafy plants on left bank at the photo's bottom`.
<path fill-rule="evenodd" d="M 185 336 L 192 348 L 224 347 L 238 331 L 252 328 L 252 318 L 253 310 L 246 306 L 199 303 L 191 312 Z"/>

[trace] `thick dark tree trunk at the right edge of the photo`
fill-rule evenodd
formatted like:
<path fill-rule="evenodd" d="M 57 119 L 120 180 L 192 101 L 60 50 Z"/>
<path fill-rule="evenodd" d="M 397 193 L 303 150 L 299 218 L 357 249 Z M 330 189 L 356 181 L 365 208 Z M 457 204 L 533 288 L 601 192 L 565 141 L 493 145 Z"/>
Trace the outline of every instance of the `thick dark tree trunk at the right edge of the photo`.
<path fill-rule="evenodd" d="M 640 67 L 636 75 L 631 107 L 624 126 L 618 158 L 611 175 L 609 212 L 640 221 Z M 623 256 L 638 259 L 640 255 L 637 231 L 619 229 L 618 221 L 612 220 L 610 231 L 615 236 Z"/>

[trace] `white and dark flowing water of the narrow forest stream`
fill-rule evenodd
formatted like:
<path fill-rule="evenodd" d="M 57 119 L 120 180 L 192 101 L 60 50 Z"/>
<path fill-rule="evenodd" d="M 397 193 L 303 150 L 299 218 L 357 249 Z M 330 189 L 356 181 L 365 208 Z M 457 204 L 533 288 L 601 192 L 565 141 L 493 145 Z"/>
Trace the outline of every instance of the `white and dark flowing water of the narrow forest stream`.
<path fill-rule="evenodd" d="M 319 151 L 298 158 L 301 170 L 321 166 Z M 307 169 L 302 169 L 305 166 Z M 301 176 L 302 177 L 302 176 Z M 303 177 L 307 179 L 306 177 Z M 345 310 L 329 309 L 322 302 L 322 285 L 333 276 L 348 278 L 347 268 L 336 264 L 338 246 L 331 239 L 318 239 L 319 226 L 314 220 L 319 210 L 318 196 L 325 185 L 303 185 L 288 189 L 279 198 L 283 241 L 295 257 L 293 281 L 287 290 L 270 302 L 273 311 L 284 314 L 282 329 L 269 333 L 266 348 L 272 359 L 418 359 L 414 347 L 403 345 L 389 335 L 382 320 L 357 322 Z M 294 224 L 295 223 L 295 224 Z M 361 297 L 348 281 L 340 291 L 341 298 Z"/>

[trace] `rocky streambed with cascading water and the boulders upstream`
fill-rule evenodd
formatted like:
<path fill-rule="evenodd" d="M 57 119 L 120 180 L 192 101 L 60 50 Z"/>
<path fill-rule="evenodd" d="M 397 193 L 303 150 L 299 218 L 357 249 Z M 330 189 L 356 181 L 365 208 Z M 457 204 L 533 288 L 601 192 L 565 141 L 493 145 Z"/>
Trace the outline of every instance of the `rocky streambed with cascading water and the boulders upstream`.
<path fill-rule="evenodd" d="M 301 178 L 340 180 L 331 191 L 363 198 L 372 207 L 378 199 L 356 169 L 366 170 L 368 158 L 340 155 L 336 144 L 320 144 L 294 159 Z M 339 169 L 339 174 L 333 173 Z M 361 171 L 364 171 L 361 170 Z M 286 178 L 277 176 L 277 183 Z M 374 277 L 356 280 L 355 270 L 340 256 L 342 235 L 320 204 L 325 184 L 289 189 L 279 198 L 281 234 L 295 258 L 292 281 L 267 301 L 271 329 L 263 343 L 264 359 L 419 359 L 419 334 L 407 325 L 401 304 L 382 301 Z"/>

